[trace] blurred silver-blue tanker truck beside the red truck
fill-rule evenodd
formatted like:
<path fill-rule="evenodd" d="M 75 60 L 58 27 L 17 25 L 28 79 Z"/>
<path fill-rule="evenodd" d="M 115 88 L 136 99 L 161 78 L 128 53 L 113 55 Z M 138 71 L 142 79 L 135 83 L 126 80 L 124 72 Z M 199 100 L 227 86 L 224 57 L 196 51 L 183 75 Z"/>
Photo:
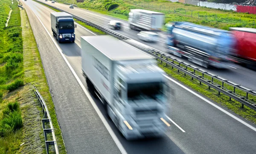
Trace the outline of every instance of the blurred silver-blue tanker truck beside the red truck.
<path fill-rule="evenodd" d="M 189 22 L 174 22 L 167 26 L 167 52 L 187 57 L 203 67 L 229 68 L 228 55 L 235 44 L 230 31 Z"/>

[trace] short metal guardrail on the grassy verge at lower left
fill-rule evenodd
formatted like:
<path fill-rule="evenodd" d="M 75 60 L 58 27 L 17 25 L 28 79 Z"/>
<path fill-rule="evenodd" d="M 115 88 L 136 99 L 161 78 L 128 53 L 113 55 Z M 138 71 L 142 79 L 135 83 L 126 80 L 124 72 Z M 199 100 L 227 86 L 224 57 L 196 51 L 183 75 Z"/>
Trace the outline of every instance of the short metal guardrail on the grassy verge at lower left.
<path fill-rule="evenodd" d="M 35 88 L 35 90 L 34 90 L 35 95 L 38 98 L 38 101 L 40 102 L 41 107 L 43 107 L 44 116 L 42 118 L 42 126 L 43 126 L 43 130 L 44 130 L 44 141 L 45 141 L 47 154 L 49 154 L 49 145 L 54 145 L 55 154 L 58 154 L 58 146 L 57 146 L 56 137 L 54 134 L 54 129 L 52 126 L 52 120 L 51 120 L 49 111 L 47 109 L 47 106 L 46 106 L 44 99 L 41 96 L 40 92 L 36 89 L 35 86 L 34 86 L 34 88 Z M 50 128 L 46 128 L 46 123 L 49 123 Z M 47 133 L 52 133 L 52 140 L 47 140 Z"/>

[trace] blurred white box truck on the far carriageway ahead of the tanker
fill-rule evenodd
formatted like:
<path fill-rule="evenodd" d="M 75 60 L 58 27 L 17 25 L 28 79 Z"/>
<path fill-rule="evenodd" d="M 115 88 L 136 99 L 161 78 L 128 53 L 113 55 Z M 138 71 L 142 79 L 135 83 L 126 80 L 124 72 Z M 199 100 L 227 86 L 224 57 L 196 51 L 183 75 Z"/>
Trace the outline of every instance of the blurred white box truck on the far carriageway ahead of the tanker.
<path fill-rule="evenodd" d="M 128 23 L 133 30 L 160 31 L 163 27 L 164 15 L 154 11 L 131 9 Z"/>

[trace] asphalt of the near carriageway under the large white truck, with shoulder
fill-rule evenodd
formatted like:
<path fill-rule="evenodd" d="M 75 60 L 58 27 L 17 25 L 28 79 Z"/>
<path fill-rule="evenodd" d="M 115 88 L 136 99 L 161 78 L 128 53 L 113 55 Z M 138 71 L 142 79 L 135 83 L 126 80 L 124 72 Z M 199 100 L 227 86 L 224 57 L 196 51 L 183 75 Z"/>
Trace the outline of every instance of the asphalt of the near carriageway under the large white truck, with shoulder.
<path fill-rule="evenodd" d="M 169 96 L 166 116 L 171 127 L 166 135 L 125 140 L 105 117 L 101 102 L 88 93 L 82 76 L 80 36 L 93 33 L 78 25 L 76 42 L 59 44 L 52 36 L 52 10 L 32 0 L 21 2 L 38 43 L 68 154 L 255 153 L 255 125 L 169 77 L 174 94 Z"/>

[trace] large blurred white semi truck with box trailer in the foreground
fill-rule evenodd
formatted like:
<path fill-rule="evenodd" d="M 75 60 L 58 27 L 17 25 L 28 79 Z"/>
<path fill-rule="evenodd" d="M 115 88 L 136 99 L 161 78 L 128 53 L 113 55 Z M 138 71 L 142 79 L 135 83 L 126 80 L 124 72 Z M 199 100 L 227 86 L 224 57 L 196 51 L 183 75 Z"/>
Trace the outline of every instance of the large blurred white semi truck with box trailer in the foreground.
<path fill-rule="evenodd" d="M 81 36 L 81 57 L 89 91 L 127 140 L 164 134 L 168 86 L 153 57 L 111 36 Z"/>

